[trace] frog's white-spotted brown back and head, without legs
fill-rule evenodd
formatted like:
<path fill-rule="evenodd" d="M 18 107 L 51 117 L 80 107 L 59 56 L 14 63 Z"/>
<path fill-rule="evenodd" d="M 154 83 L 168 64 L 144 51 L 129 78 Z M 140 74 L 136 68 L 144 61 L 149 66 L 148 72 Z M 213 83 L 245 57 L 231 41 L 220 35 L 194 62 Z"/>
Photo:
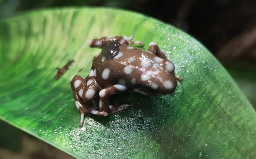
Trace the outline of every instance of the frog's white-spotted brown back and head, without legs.
<path fill-rule="evenodd" d="M 166 71 L 167 65 L 171 71 Z M 122 45 L 113 59 L 96 55 L 93 70 L 101 88 L 121 84 L 139 93 L 162 95 L 174 91 L 177 85 L 170 61 L 128 45 Z"/>

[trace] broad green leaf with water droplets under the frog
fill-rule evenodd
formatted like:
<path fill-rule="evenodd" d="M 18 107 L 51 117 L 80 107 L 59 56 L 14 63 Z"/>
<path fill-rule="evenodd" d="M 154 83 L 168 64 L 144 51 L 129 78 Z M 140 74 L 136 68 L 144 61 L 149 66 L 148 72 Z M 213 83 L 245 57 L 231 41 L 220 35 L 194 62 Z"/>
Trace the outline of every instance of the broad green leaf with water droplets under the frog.
<path fill-rule="evenodd" d="M 173 96 L 124 95 L 133 109 L 86 116 L 80 129 L 69 80 L 73 74 L 86 77 L 100 52 L 88 46 L 89 39 L 132 34 L 144 49 L 156 42 L 184 81 Z M 72 59 L 72 68 L 54 80 L 56 68 Z M 1 119 L 77 158 L 256 155 L 255 110 L 225 69 L 195 39 L 144 15 L 70 8 L 3 20 L 0 67 Z"/>

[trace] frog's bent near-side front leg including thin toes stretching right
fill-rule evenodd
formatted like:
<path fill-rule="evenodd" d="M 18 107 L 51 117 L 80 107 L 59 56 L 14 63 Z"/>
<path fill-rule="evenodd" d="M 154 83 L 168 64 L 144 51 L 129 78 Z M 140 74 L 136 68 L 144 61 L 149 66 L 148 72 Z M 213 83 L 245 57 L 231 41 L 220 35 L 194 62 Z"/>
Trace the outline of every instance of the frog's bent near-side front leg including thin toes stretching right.
<path fill-rule="evenodd" d="M 125 105 L 109 105 L 110 95 L 123 93 L 127 91 L 127 87 L 124 85 L 114 85 L 107 87 L 100 91 L 100 112 L 106 112 L 107 115 L 114 114 L 119 111 L 127 110 L 129 107 L 132 107 L 131 104 Z"/>

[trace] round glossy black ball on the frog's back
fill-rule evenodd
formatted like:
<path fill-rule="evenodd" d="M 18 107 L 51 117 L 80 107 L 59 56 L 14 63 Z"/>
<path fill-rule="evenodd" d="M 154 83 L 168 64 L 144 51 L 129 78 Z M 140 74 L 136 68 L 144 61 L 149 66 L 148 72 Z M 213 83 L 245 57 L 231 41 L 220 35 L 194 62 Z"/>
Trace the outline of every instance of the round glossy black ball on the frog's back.
<path fill-rule="evenodd" d="M 106 60 L 113 59 L 120 52 L 119 47 L 121 46 L 118 42 L 110 42 L 106 44 L 104 49 L 102 50 L 102 55 Z"/>

